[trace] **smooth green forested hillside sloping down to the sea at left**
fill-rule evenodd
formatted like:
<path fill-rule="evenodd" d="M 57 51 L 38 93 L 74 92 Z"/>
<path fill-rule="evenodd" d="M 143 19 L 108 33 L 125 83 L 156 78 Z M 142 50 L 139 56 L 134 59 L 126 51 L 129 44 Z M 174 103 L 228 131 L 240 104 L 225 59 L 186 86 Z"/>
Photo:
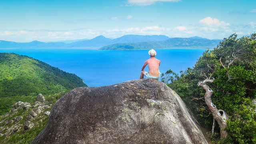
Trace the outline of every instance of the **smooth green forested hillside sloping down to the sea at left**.
<path fill-rule="evenodd" d="M 87 86 L 75 74 L 40 60 L 14 53 L 0 53 L 0 115 L 17 101 L 31 102 L 37 94 L 55 94 Z"/>

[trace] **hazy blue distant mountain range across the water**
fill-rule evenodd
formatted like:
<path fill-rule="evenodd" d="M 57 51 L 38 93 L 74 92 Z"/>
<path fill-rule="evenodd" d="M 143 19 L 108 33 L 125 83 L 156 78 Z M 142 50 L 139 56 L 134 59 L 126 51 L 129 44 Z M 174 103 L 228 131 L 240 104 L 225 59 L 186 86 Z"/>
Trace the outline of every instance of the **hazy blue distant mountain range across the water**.
<path fill-rule="evenodd" d="M 65 43 L 66 42 L 66 43 Z M 71 42 L 71 43 L 70 43 Z M 62 42 L 9 42 L 0 40 L 0 49 L 7 48 L 80 48 L 97 50 L 136 50 L 161 48 L 214 48 L 220 40 L 209 40 L 198 36 L 190 38 L 169 38 L 164 35 L 124 35 L 110 39 L 97 36 L 91 40 L 66 40 Z"/>

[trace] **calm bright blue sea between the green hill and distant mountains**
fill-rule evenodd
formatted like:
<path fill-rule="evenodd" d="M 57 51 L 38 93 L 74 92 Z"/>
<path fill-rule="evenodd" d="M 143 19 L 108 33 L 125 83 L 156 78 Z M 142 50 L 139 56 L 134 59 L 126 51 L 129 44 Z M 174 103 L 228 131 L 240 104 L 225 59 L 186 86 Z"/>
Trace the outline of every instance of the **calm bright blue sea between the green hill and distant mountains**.
<path fill-rule="evenodd" d="M 160 72 L 172 69 L 179 73 L 186 70 L 194 66 L 205 50 L 156 50 L 156 58 L 161 60 Z M 76 74 L 88 86 L 106 86 L 139 79 L 141 67 L 150 58 L 148 50 L 9 49 L 0 52 L 14 52 L 41 60 Z"/>

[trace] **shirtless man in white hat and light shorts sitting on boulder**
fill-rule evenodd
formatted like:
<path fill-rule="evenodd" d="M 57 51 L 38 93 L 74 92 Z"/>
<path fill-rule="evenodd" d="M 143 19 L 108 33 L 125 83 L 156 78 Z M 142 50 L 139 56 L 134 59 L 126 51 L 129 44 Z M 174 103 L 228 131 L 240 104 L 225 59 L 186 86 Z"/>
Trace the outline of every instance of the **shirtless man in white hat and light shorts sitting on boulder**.
<path fill-rule="evenodd" d="M 148 51 L 148 54 L 150 55 L 150 59 L 146 60 L 144 65 L 141 68 L 141 74 L 140 74 L 140 79 L 144 78 L 146 76 L 147 78 L 154 78 L 158 80 L 160 77 L 160 72 L 159 72 L 159 66 L 160 66 L 160 60 L 156 59 L 156 51 L 154 49 Z M 149 72 L 144 71 L 144 68 L 148 65 L 148 70 Z"/>

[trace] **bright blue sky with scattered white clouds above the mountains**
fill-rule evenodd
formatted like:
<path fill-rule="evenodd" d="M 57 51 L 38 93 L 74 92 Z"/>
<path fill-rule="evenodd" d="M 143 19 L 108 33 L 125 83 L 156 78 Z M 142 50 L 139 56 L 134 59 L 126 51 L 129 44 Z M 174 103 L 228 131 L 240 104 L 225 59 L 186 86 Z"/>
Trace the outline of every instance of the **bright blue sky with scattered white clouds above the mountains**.
<path fill-rule="evenodd" d="M 256 32 L 256 0 L 1 0 L 0 13 L 0 40 L 15 42 Z"/>

